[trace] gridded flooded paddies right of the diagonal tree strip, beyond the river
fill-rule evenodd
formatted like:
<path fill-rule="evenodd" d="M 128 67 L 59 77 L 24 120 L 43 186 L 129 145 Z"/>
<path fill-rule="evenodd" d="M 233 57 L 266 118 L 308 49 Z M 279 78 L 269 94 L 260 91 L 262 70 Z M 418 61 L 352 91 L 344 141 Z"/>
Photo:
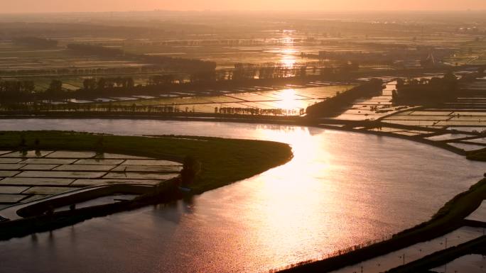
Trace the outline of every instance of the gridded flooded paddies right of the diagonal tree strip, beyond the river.
<path fill-rule="evenodd" d="M 462 72 L 461 72 L 462 73 Z M 424 77 L 437 75 L 424 75 Z M 418 77 L 421 78 L 421 77 Z M 360 79 L 365 81 L 367 79 Z M 333 122 L 320 126 L 352 128 L 369 132 L 387 133 L 398 137 L 422 139 L 451 147 L 456 151 L 470 152 L 486 148 L 486 79 L 462 84 L 463 95 L 456 101 L 424 106 L 396 105 L 392 91 L 396 81 L 386 82 L 382 93 L 366 99 L 356 99 L 329 119 Z M 387 82 L 388 81 L 388 82 Z M 340 123 L 342 121 L 342 123 Z M 349 126 L 349 121 L 380 121 L 380 126 Z"/>

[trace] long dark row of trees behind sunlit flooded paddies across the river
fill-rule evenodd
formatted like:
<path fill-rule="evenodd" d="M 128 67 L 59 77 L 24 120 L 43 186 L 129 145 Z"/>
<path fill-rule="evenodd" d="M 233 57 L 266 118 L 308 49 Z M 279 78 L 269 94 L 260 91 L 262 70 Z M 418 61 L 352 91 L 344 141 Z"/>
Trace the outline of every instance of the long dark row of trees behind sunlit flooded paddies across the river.
<path fill-rule="evenodd" d="M 36 90 L 32 81 L 4 80 L 0 81 L 4 86 L 0 89 L 0 104 L 39 100 L 96 99 L 111 96 L 158 96 L 174 91 L 231 90 L 240 87 L 302 84 L 312 80 L 340 81 L 352 78 L 350 71 L 342 67 L 323 68 L 320 69 L 320 74 L 313 75 L 306 75 L 306 72 L 301 71 L 297 77 L 283 77 L 278 67 L 272 68 L 272 71 L 274 74 L 266 74 L 266 77 L 261 78 L 249 76 L 250 74 L 239 70 L 194 72 L 190 74 L 189 80 L 181 78 L 180 74 L 156 74 L 149 77 L 144 85 L 135 84 L 133 77 L 97 77 L 84 79 L 82 88 L 77 90 L 63 89 L 63 82 L 59 79 L 53 79 L 49 87 L 43 91 Z M 247 76 L 242 77 L 241 73 Z"/>

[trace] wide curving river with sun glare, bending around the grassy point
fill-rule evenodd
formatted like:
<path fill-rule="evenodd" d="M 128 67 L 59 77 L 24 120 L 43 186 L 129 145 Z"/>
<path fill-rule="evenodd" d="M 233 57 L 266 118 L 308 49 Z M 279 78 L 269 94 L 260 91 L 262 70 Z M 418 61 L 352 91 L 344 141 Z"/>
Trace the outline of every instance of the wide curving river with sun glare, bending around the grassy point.
<path fill-rule="evenodd" d="M 26 129 L 277 140 L 295 157 L 192 200 L 0 242 L 0 272 L 266 272 L 426 221 L 486 166 L 407 140 L 299 126 L 0 120 L 0 130 Z"/>

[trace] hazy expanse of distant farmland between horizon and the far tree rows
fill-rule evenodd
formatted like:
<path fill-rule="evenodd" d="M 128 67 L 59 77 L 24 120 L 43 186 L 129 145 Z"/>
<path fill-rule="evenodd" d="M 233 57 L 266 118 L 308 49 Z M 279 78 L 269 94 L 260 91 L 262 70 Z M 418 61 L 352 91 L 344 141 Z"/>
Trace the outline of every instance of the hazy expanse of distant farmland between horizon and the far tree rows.
<path fill-rule="evenodd" d="M 42 16 L 2 18 L 0 77 L 32 79 L 36 89 L 42 91 L 51 79 L 61 79 L 64 89 L 75 90 L 87 77 L 129 75 L 135 84 L 146 84 L 152 74 L 175 73 L 169 67 L 153 67 L 124 57 L 76 54 L 66 48 L 70 43 L 102 45 L 137 55 L 207 60 L 216 62 L 217 69 L 234 69 L 237 63 L 288 68 L 306 65 L 309 74 L 318 73 L 313 67 L 333 67 L 355 55 L 361 56 L 355 61 L 365 72 L 419 67 L 421 58 L 426 57 L 423 55 L 428 54 L 424 48 L 434 48 L 437 54 L 446 52 L 443 62 L 448 65 L 485 62 L 484 35 L 468 25 L 470 20 L 481 18 L 477 14 L 467 14 L 462 21 L 433 18 L 428 24 L 412 14 L 394 16 L 394 21 L 388 14 L 353 20 L 337 14 L 286 19 L 234 14 L 227 20 L 227 16 L 217 14 L 174 16 L 157 11 L 98 16 L 57 15 L 48 23 Z M 53 31 L 55 27 L 58 30 Z M 16 43 L 15 38 L 22 35 L 50 38 L 58 45 L 33 48 Z M 333 55 L 319 57 L 320 52 Z M 389 57 L 369 57 L 374 54 Z"/>

